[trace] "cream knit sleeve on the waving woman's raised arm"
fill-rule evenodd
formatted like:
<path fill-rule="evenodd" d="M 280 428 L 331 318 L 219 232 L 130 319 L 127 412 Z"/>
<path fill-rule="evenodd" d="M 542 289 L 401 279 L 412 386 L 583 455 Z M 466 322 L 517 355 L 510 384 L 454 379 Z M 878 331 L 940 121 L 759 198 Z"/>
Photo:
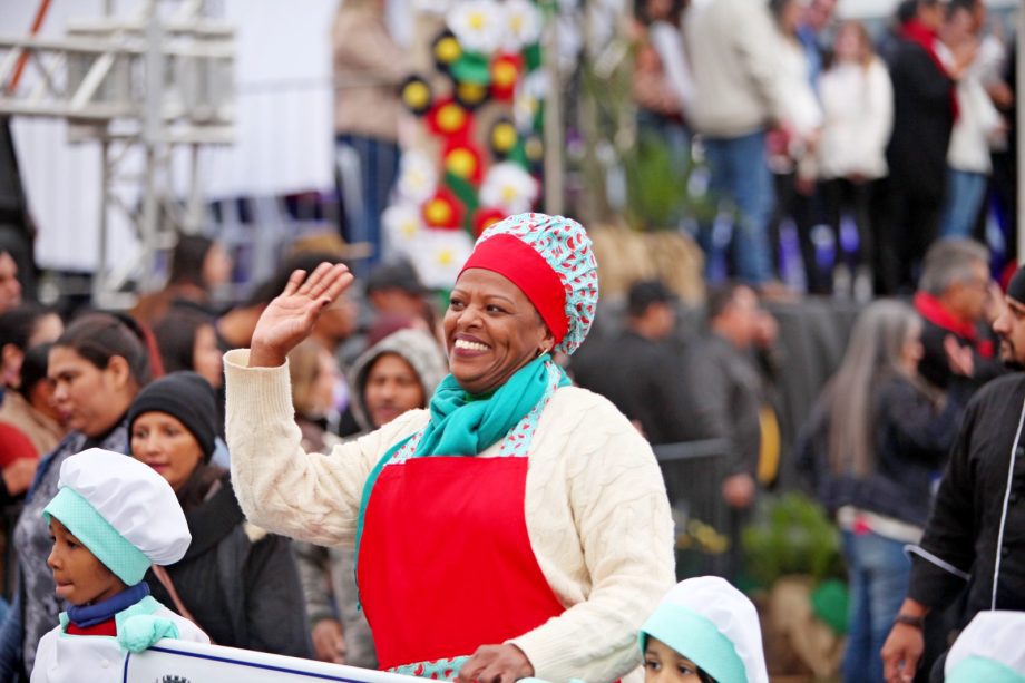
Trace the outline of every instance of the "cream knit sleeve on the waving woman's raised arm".
<path fill-rule="evenodd" d="M 295 423 L 287 364 L 248 368 L 248 350 L 224 355 L 232 482 L 253 524 L 319 545 L 351 545 L 363 485 L 378 460 L 422 427 L 410 411 L 330 455 L 308 453 Z"/>

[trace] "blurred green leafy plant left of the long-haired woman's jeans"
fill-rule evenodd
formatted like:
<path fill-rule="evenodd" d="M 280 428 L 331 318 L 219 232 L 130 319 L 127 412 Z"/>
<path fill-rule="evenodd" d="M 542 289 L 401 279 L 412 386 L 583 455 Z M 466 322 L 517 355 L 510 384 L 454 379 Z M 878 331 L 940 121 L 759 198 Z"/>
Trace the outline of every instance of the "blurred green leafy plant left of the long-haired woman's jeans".
<path fill-rule="evenodd" d="M 742 534 L 746 573 L 763 588 L 781 576 L 843 576 L 840 534 L 822 507 L 792 491 L 767 499 Z"/>

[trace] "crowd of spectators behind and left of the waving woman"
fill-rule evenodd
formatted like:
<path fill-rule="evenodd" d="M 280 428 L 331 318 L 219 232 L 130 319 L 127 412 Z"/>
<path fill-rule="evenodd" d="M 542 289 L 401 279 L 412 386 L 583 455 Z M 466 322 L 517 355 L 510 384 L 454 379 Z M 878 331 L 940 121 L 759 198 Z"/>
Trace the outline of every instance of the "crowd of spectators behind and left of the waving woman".
<path fill-rule="evenodd" d="M 66 324 L 56 310 L 22 301 L 17 269 L 0 254 L 9 275 L 0 306 L 6 656 L 20 652 L 31 671 L 61 609 L 47 566 L 50 539 L 38 524 L 56 492 L 50 464 L 101 447 L 154 467 L 185 511 L 188 554 L 147 576 L 162 603 L 217 644 L 374 665 L 351 553 L 293 548 L 246 523 L 223 439 L 223 353 L 250 344 L 260 313 L 294 270 L 323 261 L 341 258 L 292 254 L 246 301 L 224 308 L 213 293 L 231 261 L 215 242 L 183 236 L 166 287 L 131 311 L 77 311 Z M 345 295 L 322 313 L 289 359 L 295 420 L 311 450 L 326 452 L 426 407 L 448 372 L 435 304 L 412 266 L 381 265 L 362 284 L 359 299 Z"/>

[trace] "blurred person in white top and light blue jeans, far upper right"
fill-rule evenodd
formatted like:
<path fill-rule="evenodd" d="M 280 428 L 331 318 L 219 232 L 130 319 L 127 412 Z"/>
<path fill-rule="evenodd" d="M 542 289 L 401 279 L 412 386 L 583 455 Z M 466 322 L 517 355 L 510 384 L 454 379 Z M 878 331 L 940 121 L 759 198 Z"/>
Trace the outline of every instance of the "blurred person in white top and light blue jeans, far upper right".
<path fill-rule="evenodd" d="M 940 29 L 940 57 L 953 60 L 958 51 L 978 51 L 979 14 L 973 4 L 951 3 Z M 972 237 L 979 212 L 986 199 L 986 187 L 993 172 L 990 143 L 999 138 L 1006 126 L 984 84 L 984 65 L 972 62 L 957 84 L 959 116 L 950 134 L 947 150 L 947 197 L 939 234 L 945 238 Z"/>

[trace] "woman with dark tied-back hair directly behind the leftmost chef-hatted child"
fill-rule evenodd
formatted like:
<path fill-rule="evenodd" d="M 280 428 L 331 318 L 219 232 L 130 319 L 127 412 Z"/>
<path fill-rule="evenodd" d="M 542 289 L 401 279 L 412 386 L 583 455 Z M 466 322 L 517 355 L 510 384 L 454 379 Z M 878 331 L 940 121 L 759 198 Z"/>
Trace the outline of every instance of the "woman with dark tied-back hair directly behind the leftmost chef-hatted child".
<path fill-rule="evenodd" d="M 53 400 L 70 433 L 39 462 L 14 527 L 20 576 L 18 602 L 0 634 L 0 680 L 31 675 L 39 638 L 61 612 L 47 566 L 52 541 L 42 508 L 57 494 L 60 465 L 87 448 L 128 452 L 128 407 L 150 378 L 144 330 L 128 318 L 90 313 L 72 322 L 50 349 Z"/>

